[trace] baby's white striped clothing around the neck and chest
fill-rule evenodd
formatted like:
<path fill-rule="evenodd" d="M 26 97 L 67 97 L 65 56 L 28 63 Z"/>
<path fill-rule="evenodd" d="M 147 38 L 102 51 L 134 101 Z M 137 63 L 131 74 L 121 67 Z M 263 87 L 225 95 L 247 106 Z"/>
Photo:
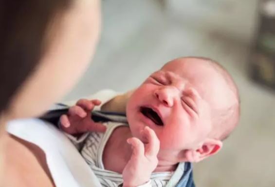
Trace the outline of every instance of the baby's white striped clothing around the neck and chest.
<path fill-rule="evenodd" d="M 99 115 L 111 118 L 109 122 L 103 123 L 107 126 L 105 133 L 91 132 L 85 133 L 79 138 L 71 135 L 67 136 L 73 141 L 75 146 L 80 151 L 81 155 L 94 171 L 103 187 L 118 187 L 123 183 L 122 174 L 108 171 L 104 169 L 102 156 L 105 145 L 110 138 L 113 130 L 119 126 L 128 125 L 124 116 L 113 116 L 103 114 L 102 112 L 93 112 L 94 115 Z M 173 172 L 155 172 L 151 175 L 152 187 L 175 187 L 184 173 L 184 163 L 180 163 Z"/>

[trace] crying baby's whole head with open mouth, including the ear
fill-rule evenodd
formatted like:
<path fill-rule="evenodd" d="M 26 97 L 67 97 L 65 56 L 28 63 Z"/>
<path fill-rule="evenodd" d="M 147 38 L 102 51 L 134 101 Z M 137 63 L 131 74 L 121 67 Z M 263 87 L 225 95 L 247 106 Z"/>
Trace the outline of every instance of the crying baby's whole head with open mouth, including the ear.
<path fill-rule="evenodd" d="M 187 57 L 166 63 L 131 95 L 133 136 L 145 126 L 158 136 L 159 158 L 198 162 L 217 153 L 239 120 L 238 89 L 218 63 Z"/>

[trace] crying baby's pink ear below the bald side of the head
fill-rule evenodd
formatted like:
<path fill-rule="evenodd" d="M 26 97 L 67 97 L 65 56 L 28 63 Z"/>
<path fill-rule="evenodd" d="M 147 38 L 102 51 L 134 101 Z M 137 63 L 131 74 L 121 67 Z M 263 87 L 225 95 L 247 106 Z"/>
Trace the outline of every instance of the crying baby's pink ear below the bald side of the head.
<path fill-rule="evenodd" d="M 187 162 L 200 162 L 208 156 L 212 156 L 220 151 L 222 141 L 215 139 L 207 139 L 197 150 L 185 150 L 184 160 Z"/>

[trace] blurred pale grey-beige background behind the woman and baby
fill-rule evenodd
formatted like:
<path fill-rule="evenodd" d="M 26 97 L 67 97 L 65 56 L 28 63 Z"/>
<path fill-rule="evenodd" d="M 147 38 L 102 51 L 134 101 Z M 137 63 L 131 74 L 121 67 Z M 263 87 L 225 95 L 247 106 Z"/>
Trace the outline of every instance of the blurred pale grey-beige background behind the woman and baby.
<path fill-rule="evenodd" d="M 177 57 L 212 58 L 238 84 L 241 121 L 218 155 L 195 165 L 196 185 L 275 187 L 275 0 L 102 3 L 95 58 L 65 100 L 128 91 Z"/>

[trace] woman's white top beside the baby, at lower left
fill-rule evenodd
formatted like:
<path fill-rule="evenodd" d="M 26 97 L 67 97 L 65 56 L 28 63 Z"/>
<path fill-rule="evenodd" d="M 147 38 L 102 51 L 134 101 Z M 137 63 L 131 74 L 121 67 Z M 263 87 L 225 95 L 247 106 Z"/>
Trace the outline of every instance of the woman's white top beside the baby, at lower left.
<path fill-rule="evenodd" d="M 44 151 L 56 187 L 102 187 L 72 142 L 54 125 L 38 119 L 16 120 L 7 131 Z"/>

